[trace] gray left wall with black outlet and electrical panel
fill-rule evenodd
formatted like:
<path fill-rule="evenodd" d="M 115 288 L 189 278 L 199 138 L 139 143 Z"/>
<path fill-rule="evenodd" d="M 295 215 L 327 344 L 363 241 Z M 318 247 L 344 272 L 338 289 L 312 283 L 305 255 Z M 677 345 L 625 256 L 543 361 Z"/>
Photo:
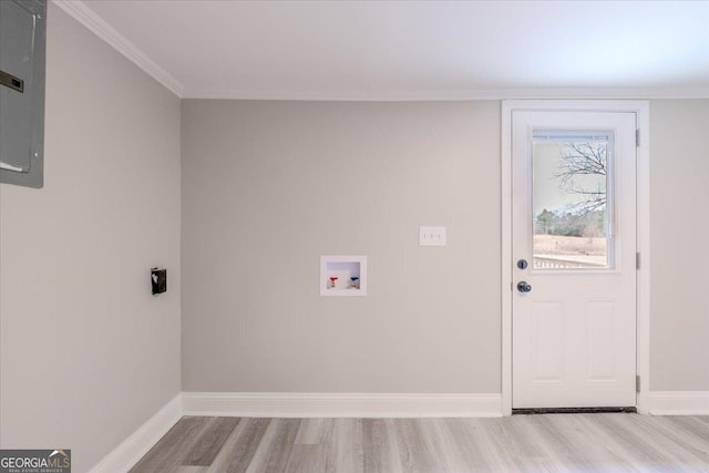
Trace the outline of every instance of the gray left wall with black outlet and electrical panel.
<path fill-rule="evenodd" d="M 181 389 L 179 101 L 49 9 L 45 185 L 0 185 L 1 446 L 79 473 Z"/>

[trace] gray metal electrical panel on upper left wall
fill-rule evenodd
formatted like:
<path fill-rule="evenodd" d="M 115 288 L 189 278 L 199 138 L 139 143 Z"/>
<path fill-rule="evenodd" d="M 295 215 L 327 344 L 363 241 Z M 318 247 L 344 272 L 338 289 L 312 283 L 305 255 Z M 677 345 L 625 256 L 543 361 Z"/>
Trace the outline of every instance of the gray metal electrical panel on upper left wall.
<path fill-rule="evenodd" d="M 0 182 L 43 185 L 47 0 L 0 0 Z"/>

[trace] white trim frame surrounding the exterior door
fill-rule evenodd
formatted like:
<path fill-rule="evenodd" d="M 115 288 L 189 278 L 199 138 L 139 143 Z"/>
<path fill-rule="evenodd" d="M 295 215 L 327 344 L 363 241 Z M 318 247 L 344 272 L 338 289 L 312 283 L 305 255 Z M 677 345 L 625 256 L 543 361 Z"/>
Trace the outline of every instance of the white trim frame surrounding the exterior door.
<path fill-rule="evenodd" d="M 504 100 L 502 101 L 502 412 L 512 413 L 512 112 L 588 111 L 631 112 L 637 115 L 640 142 L 637 148 L 637 372 L 640 391 L 637 409 L 648 413 L 650 385 L 650 179 L 649 103 L 647 101 L 600 100 Z"/>

